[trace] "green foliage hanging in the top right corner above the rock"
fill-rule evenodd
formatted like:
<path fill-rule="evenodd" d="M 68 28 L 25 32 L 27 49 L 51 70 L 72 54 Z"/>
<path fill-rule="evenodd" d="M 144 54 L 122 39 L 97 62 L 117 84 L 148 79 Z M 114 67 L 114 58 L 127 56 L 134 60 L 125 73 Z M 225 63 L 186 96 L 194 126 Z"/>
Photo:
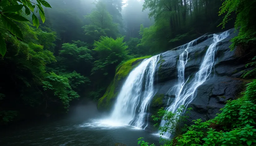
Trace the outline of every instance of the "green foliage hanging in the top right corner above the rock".
<path fill-rule="evenodd" d="M 219 15 L 226 14 L 219 26 L 222 25 L 225 28 L 227 22 L 236 17 L 235 28 L 239 29 L 239 34 L 231 40 L 230 48 L 232 50 L 236 46 L 245 47 L 255 44 L 255 7 L 256 2 L 251 0 L 225 0 L 220 7 Z M 232 13 L 236 13 L 236 15 L 232 15 Z"/>

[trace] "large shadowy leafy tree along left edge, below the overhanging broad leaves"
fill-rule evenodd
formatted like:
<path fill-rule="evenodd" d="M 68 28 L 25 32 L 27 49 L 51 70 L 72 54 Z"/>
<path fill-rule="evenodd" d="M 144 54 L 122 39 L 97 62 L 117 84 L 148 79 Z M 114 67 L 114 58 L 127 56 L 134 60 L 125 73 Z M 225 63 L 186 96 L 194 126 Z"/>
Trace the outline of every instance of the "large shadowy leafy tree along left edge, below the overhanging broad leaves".
<path fill-rule="evenodd" d="M 0 75 L 3 77 L 0 78 L 0 93 L 4 95 L 1 96 L 0 113 L 9 118 L 13 117 L 11 115 L 46 110 L 42 83 L 45 81 L 46 65 L 56 61 L 53 53 L 43 46 L 52 44 L 56 36 L 35 29 L 28 22 L 17 23 L 17 26 L 23 32 L 23 41 L 11 35 L 0 21 L 0 32 L 7 47 L 5 56 L 0 59 Z M 42 35 L 52 37 L 42 42 L 38 39 Z"/>

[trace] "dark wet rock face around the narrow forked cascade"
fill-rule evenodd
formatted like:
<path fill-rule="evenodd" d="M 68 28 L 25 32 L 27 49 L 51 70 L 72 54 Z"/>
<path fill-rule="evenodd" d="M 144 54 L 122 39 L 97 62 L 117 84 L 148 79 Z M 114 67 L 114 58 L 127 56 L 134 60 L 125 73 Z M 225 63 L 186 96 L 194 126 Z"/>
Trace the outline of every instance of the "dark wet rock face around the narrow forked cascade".
<path fill-rule="evenodd" d="M 230 40 L 237 35 L 233 33 L 234 29 L 229 30 L 230 35 L 218 43 L 218 49 L 215 53 L 215 66 L 211 77 L 199 86 L 195 92 L 194 99 L 188 107 L 193 110 L 190 119 L 209 120 L 214 118 L 219 109 L 223 108 L 225 101 L 235 99 L 237 93 L 244 87 L 244 81 L 239 79 L 241 71 L 245 70 L 245 62 L 236 57 L 234 51 L 229 46 Z M 199 70 L 205 52 L 213 43 L 213 35 L 205 35 L 196 40 L 196 45 L 187 49 L 188 62 L 185 65 L 185 79 L 193 77 Z M 157 72 L 156 90 L 157 95 L 165 94 L 162 98 L 162 106 L 173 101 L 174 95 L 168 95 L 173 86 L 178 82 L 177 63 L 179 55 L 184 51 L 183 47 L 177 47 L 171 51 L 161 54 L 162 61 L 159 63 Z M 151 114 L 159 109 L 159 105 L 151 104 Z"/>

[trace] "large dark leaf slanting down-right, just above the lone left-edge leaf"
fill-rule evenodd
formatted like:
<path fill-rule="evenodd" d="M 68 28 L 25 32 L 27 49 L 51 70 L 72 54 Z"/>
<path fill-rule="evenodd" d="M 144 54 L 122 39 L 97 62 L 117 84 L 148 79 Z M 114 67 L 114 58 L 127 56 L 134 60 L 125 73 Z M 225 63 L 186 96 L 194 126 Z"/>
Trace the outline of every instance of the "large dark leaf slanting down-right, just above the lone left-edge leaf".
<path fill-rule="evenodd" d="M 16 37 L 19 37 L 21 40 L 23 40 L 22 32 L 20 31 L 20 28 L 15 24 L 11 19 L 7 18 L 6 16 L 2 15 L 1 17 L 2 22 L 4 26 Z"/>

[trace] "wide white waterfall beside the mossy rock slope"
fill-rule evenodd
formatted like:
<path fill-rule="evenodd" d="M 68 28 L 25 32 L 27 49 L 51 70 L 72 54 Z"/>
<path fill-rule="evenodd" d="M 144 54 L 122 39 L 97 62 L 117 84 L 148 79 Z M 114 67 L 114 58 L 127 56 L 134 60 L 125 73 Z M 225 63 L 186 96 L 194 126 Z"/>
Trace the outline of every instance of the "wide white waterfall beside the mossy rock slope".
<path fill-rule="evenodd" d="M 160 54 L 144 59 L 130 72 L 117 96 L 111 121 L 135 126 L 147 127 L 149 103 L 154 96 L 154 76 Z"/>

